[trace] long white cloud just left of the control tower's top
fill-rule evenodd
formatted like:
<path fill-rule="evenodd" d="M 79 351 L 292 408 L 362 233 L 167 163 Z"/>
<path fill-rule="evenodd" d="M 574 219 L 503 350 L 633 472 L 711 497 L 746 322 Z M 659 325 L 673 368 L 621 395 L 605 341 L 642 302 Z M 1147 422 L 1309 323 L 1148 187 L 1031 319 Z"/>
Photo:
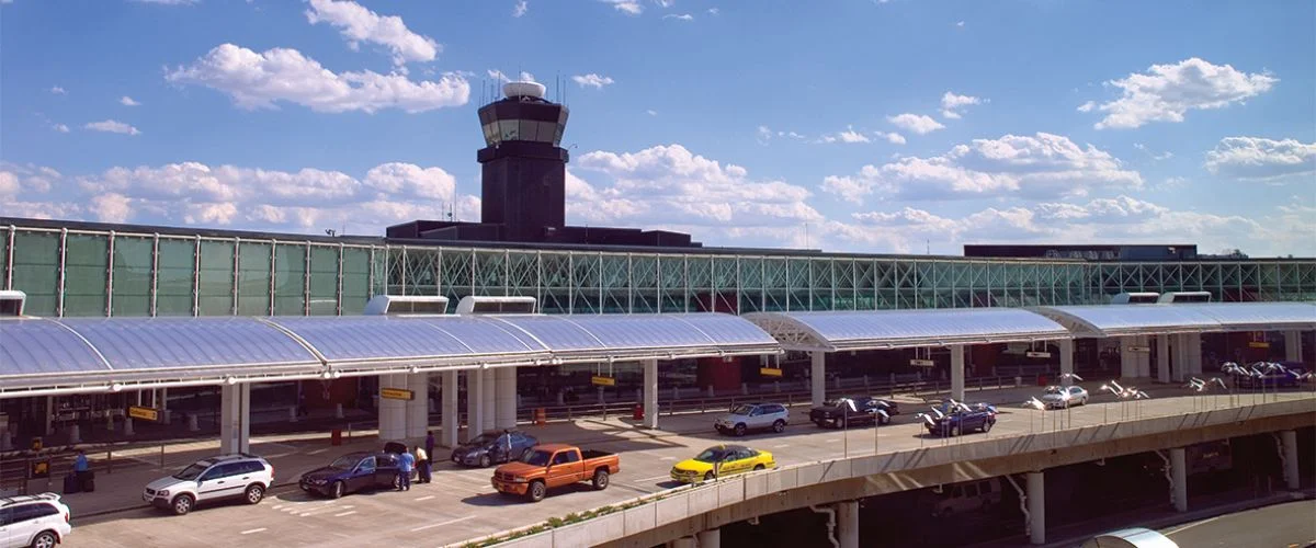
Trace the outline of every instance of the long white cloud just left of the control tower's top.
<path fill-rule="evenodd" d="M 397 108 L 409 113 L 465 105 L 471 87 L 457 74 L 438 81 L 412 81 L 400 74 L 372 71 L 334 74 L 297 50 L 275 47 L 255 53 L 224 43 L 187 67 L 164 76 L 178 84 L 197 84 L 228 93 L 240 108 L 276 108 L 295 103 L 317 112 Z"/>

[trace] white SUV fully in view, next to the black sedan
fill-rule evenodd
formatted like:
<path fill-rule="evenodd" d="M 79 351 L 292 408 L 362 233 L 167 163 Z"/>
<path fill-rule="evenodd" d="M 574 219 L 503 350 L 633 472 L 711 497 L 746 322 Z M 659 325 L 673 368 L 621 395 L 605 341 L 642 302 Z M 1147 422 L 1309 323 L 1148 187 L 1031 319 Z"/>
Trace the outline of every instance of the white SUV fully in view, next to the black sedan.
<path fill-rule="evenodd" d="M 241 497 L 255 505 L 274 485 L 274 467 L 253 455 L 224 455 L 199 460 L 179 473 L 146 484 L 142 499 L 183 515 L 197 503 Z"/>

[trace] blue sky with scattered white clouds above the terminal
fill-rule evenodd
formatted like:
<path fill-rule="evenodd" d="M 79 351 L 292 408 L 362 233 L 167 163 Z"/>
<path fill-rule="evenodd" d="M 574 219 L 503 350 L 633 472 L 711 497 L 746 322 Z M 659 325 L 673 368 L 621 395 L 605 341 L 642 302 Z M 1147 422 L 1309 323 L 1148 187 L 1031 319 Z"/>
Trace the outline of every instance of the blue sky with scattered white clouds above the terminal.
<path fill-rule="evenodd" d="M 474 221 L 475 109 L 528 72 L 572 223 L 1316 255 L 1313 1 L 0 1 L 5 216 Z"/>

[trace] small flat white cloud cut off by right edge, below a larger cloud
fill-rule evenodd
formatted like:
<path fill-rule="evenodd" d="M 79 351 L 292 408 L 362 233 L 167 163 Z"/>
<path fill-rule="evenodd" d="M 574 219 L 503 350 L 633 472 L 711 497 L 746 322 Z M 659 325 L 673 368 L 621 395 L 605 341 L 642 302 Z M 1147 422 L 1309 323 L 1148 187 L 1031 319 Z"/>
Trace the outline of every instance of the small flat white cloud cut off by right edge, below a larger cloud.
<path fill-rule="evenodd" d="M 1227 137 L 1207 152 L 1207 171 L 1241 180 L 1316 173 L 1316 143 L 1263 137 Z M 1309 183 L 1309 180 L 1308 180 Z"/>

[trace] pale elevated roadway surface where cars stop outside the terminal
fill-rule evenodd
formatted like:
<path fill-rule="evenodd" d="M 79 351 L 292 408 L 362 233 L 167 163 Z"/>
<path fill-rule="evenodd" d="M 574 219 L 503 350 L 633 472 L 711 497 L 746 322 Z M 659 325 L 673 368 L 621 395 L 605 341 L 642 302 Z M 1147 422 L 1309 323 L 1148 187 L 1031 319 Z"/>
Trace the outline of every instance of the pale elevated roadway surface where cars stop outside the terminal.
<path fill-rule="evenodd" d="M 75 520 L 74 534 L 67 537 L 64 547 L 443 545 L 670 489 L 674 486 L 667 477 L 671 465 L 716 443 L 734 442 L 770 451 L 780 465 L 791 465 L 837 459 L 848 453 L 871 455 L 875 447 L 880 452 L 891 452 L 973 442 L 979 436 L 1019 436 L 1054 428 L 1061 422 L 1079 427 L 1116 421 L 1121 414 L 1125 418 L 1163 415 L 1191 411 L 1202 405 L 1200 401 L 1166 397 L 1128 403 L 1103 403 L 1095 400 L 1091 405 L 1065 411 L 1003 406 L 999 422 L 990 434 L 969 434 L 951 440 L 923 436 L 923 424 L 913 413 L 925 407 L 912 402 L 901 403 L 904 414 L 896 415 L 894 424 L 849 431 L 817 428 L 808 423 L 808 407 L 795 407 L 792 423 L 784 432 L 753 434 L 741 439 L 713 432 L 712 421 L 716 414 L 712 413 L 663 417 L 661 423 L 665 430 L 687 432 L 676 435 L 654 436 L 612 422 L 607 428 L 595 428 L 596 434 L 607 435 L 607 442 L 587 444 L 590 448 L 621 453 L 621 473 L 612 477 L 612 485 L 604 491 L 595 491 L 587 484 L 580 484 L 574 489 L 551 491 L 541 503 L 528 503 L 496 494 L 490 486 L 488 469 L 458 469 L 450 463 L 442 463 L 436 467 L 433 484 L 415 485 L 407 493 L 386 490 L 330 501 L 311 497 L 296 488 L 280 488 L 257 506 L 201 506 L 186 516 L 138 509 Z M 591 426 L 584 424 L 587 422 L 590 419 L 578 421 L 571 427 Z M 603 423 L 592 426 L 600 424 Z M 296 474 L 300 472 L 303 470 L 288 470 Z M 282 476 L 284 472 L 278 473 Z M 124 495 L 139 497 L 139 491 Z"/>

